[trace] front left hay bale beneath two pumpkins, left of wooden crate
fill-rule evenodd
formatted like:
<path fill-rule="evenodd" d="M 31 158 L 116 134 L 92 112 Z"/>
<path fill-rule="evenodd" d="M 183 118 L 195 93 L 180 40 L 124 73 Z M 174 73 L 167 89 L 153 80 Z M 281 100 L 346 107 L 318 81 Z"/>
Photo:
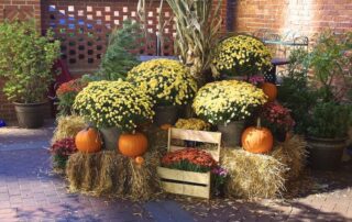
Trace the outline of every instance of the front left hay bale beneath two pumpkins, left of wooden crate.
<path fill-rule="evenodd" d="M 161 192 L 156 174 L 160 155 L 148 152 L 144 158 L 145 164 L 139 166 L 134 159 L 114 151 L 76 153 L 66 167 L 69 190 L 135 201 L 153 199 Z"/>

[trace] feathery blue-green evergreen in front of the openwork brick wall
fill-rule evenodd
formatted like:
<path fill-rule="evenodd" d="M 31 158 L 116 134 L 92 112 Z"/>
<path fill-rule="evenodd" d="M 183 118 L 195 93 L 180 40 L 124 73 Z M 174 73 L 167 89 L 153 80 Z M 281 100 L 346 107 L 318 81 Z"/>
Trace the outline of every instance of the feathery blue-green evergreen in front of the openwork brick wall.
<path fill-rule="evenodd" d="M 139 60 L 131 51 L 141 45 L 140 25 L 130 20 L 123 22 L 122 29 L 112 31 L 109 37 L 109 46 L 103 55 L 99 75 L 107 80 L 124 79 L 127 73 L 139 64 Z"/>

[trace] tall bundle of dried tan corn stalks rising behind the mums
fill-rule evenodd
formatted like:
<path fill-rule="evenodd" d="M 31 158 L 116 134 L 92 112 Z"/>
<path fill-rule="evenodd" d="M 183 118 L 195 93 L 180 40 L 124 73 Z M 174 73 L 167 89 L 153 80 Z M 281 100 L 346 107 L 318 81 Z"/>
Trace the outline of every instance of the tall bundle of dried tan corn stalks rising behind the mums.
<path fill-rule="evenodd" d="M 222 0 L 166 0 L 174 13 L 176 49 L 191 75 L 204 80 L 212 68 L 211 59 L 221 29 Z"/>

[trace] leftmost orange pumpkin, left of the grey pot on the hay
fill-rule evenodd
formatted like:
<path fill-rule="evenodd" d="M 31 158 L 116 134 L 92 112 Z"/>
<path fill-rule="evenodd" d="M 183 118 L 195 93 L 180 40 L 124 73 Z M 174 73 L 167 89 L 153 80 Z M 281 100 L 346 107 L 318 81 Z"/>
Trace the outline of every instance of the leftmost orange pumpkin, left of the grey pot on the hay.
<path fill-rule="evenodd" d="M 101 138 L 99 132 L 92 127 L 79 131 L 75 137 L 78 151 L 84 153 L 96 153 L 101 151 Z"/>

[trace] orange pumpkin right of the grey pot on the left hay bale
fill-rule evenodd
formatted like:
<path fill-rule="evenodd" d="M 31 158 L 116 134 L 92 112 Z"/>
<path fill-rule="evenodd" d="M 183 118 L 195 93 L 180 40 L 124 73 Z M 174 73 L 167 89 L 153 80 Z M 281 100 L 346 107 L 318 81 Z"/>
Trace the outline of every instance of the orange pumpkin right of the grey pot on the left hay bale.
<path fill-rule="evenodd" d="M 147 138 L 142 133 L 122 134 L 119 138 L 119 151 L 129 157 L 142 156 L 147 148 Z"/>

